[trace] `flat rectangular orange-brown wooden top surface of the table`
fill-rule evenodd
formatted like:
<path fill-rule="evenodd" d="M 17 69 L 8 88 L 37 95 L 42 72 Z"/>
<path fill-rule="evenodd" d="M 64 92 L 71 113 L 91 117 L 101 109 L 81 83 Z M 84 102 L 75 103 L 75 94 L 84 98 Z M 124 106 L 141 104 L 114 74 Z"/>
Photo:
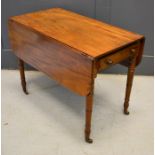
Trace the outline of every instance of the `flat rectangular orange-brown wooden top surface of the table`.
<path fill-rule="evenodd" d="M 14 16 L 11 21 L 56 39 L 93 58 L 143 38 L 142 35 L 61 8 Z"/>

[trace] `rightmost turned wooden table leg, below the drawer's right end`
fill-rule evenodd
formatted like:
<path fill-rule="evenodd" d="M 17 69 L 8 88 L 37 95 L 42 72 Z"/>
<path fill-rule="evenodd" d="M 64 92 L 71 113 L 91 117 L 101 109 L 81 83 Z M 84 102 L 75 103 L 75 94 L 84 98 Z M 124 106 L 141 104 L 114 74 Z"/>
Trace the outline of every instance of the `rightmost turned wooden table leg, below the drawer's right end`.
<path fill-rule="evenodd" d="M 136 55 L 131 58 L 130 66 L 128 67 L 126 94 L 125 94 L 125 102 L 124 102 L 124 114 L 126 115 L 129 115 L 128 107 L 129 107 L 129 99 L 130 99 L 133 77 L 135 72 L 135 65 L 136 65 Z"/>

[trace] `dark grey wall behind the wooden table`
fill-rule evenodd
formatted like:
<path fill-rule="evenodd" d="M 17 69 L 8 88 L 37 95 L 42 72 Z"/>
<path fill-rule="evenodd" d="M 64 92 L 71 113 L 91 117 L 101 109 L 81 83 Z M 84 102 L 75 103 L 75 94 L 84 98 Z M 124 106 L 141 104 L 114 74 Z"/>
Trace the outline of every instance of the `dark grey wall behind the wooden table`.
<path fill-rule="evenodd" d="M 142 63 L 136 74 L 153 75 L 153 0 L 2 0 L 2 69 L 17 69 L 8 40 L 7 22 L 10 16 L 52 7 L 62 7 L 85 16 L 145 35 Z M 93 36 L 92 36 L 93 37 Z M 33 69 L 26 65 L 27 69 Z M 116 65 L 104 73 L 124 74 L 127 68 Z"/>

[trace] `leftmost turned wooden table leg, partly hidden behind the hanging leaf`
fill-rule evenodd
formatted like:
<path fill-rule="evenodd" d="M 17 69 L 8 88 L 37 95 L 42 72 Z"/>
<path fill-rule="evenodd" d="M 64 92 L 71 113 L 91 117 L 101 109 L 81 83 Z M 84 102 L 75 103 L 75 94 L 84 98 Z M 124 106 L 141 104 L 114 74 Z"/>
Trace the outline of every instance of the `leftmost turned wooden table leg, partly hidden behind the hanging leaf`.
<path fill-rule="evenodd" d="M 20 78 L 21 78 L 21 85 L 25 94 L 28 94 L 26 89 L 26 80 L 25 80 L 25 73 L 24 73 L 24 61 L 19 59 L 19 71 L 20 71 Z"/>

